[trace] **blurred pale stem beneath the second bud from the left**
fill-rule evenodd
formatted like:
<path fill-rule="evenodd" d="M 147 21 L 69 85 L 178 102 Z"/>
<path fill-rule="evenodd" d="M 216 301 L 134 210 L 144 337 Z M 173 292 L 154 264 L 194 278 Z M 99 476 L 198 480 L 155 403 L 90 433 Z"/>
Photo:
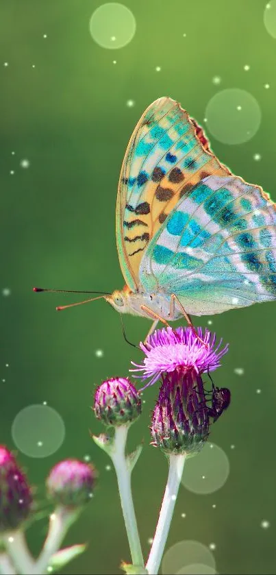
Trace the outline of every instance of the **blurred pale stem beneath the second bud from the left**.
<path fill-rule="evenodd" d="M 61 546 L 68 528 L 75 521 L 78 511 L 68 511 L 65 507 L 58 507 L 50 517 L 49 531 L 45 539 L 42 552 L 38 557 L 31 575 L 42 575 L 47 573 L 47 567 L 51 561 L 51 557 L 55 554 Z"/>

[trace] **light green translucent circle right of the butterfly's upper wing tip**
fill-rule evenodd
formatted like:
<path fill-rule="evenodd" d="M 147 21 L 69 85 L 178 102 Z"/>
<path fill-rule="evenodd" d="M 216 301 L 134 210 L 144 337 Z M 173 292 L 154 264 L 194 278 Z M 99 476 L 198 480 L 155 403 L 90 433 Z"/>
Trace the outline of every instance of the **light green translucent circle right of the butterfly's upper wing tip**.
<path fill-rule="evenodd" d="M 209 132 L 224 144 L 242 144 L 255 136 L 262 112 L 252 94 L 240 88 L 216 93 L 205 110 Z"/>

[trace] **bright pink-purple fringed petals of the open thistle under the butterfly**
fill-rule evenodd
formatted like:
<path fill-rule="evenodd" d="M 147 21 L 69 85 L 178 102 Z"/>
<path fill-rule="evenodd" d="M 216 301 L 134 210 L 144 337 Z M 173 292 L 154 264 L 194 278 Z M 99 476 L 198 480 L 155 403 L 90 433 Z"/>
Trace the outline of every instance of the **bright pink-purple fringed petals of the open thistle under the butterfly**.
<path fill-rule="evenodd" d="M 205 345 L 192 328 L 173 330 L 171 327 L 156 330 L 147 343 L 140 343 L 141 350 L 145 352 L 144 363 L 131 362 L 136 369 L 129 371 L 140 372 L 134 377 L 142 380 L 151 378 L 142 389 L 153 385 L 162 373 L 170 373 L 177 368 L 181 368 L 183 373 L 194 369 L 197 374 L 203 374 L 221 365 L 220 359 L 227 352 L 228 345 L 219 350 L 222 340 L 216 345 L 216 334 L 211 334 L 207 329 L 203 334 L 202 328 L 198 328 L 197 332 Z"/>

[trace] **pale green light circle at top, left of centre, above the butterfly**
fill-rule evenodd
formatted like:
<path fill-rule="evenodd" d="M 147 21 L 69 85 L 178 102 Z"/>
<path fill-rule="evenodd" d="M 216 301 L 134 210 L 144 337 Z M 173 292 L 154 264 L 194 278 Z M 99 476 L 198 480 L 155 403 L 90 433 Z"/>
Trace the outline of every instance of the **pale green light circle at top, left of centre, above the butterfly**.
<path fill-rule="evenodd" d="M 108 2 L 93 12 L 89 29 L 93 40 L 102 48 L 123 48 L 134 37 L 136 19 L 127 6 Z"/>

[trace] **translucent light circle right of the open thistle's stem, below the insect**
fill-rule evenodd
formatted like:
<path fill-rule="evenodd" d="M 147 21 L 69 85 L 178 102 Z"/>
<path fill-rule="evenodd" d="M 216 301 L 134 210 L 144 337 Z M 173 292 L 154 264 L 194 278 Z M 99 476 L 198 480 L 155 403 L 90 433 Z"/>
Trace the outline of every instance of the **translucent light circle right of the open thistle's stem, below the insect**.
<path fill-rule="evenodd" d="M 215 443 L 207 441 L 197 456 L 187 459 L 181 482 L 189 491 L 206 495 L 223 487 L 229 471 L 226 453 Z"/>

